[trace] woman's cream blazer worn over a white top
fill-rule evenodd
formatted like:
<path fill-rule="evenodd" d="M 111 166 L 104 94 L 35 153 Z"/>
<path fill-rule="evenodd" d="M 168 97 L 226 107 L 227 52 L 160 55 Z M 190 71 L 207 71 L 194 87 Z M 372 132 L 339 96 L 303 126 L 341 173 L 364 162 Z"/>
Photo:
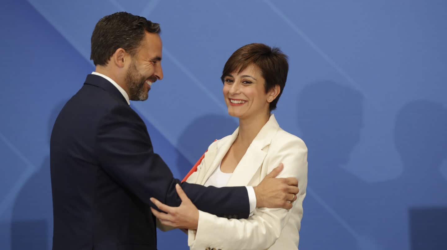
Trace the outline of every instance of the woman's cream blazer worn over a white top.
<path fill-rule="evenodd" d="M 201 164 L 188 180 L 205 184 L 236 139 L 232 135 L 211 143 Z M 228 219 L 199 211 L 198 229 L 188 230 L 191 250 L 293 250 L 298 249 L 303 199 L 307 186 L 307 147 L 302 139 L 281 129 L 274 115 L 262 127 L 237 164 L 227 186 L 256 186 L 279 163 L 278 177 L 298 179 L 299 194 L 293 208 L 257 208 L 248 219 Z"/>

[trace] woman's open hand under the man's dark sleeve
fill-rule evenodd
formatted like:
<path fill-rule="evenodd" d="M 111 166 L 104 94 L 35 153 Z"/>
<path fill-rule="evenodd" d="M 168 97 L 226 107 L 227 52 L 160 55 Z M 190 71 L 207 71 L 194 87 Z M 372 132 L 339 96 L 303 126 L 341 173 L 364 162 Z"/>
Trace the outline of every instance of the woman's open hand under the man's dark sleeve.
<path fill-rule="evenodd" d="M 183 192 L 179 184 L 175 185 L 177 194 L 181 199 L 181 204 L 178 207 L 170 207 L 158 201 L 156 198 L 151 198 L 152 203 L 163 212 L 158 212 L 151 208 L 152 214 L 157 217 L 163 225 L 169 225 L 175 228 L 197 229 L 198 225 L 198 209 L 191 202 L 191 200 Z"/>

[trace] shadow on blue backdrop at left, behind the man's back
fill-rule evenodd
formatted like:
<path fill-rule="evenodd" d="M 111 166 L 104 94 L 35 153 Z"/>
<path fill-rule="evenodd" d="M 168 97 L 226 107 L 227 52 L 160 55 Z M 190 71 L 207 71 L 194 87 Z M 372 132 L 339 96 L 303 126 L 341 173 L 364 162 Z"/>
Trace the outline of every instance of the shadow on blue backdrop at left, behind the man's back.
<path fill-rule="evenodd" d="M 59 102 L 51 111 L 46 131 L 48 148 L 51 130 L 65 102 Z M 11 221 L 12 250 L 51 249 L 52 208 L 50 156 L 48 155 L 45 156 L 40 168 L 36 169 L 16 197 Z"/>

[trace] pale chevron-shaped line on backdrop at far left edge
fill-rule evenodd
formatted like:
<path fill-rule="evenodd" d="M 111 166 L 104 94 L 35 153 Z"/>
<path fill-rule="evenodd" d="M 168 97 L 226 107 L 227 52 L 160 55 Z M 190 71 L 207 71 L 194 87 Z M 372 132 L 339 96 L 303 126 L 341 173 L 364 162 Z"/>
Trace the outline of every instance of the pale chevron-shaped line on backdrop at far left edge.
<path fill-rule="evenodd" d="M 21 173 L 19 179 L 14 183 L 13 188 L 8 191 L 3 201 L 0 203 L 0 216 L 4 213 L 4 211 L 11 205 L 14 199 L 17 197 L 17 193 L 20 192 L 20 189 L 26 183 L 26 181 L 36 172 L 37 168 L 34 164 L 30 162 L 21 152 L 18 150 L 13 143 L 11 143 L 4 135 L 0 132 L 0 140 L 11 149 L 14 154 L 22 160 L 25 165 L 25 171 Z"/>

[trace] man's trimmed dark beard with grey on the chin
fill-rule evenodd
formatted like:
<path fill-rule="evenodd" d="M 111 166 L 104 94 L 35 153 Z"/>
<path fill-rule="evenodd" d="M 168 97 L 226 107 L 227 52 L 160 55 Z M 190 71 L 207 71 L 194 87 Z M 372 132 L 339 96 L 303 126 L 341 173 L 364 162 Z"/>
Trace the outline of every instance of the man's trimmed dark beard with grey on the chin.
<path fill-rule="evenodd" d="M 132 101 L 144 101 L 148 99 L 148 92 L 144 84 L 148 78 L 139 74 L 135 63 L 132 63 L 126 74 L 126 85 L 129 88 L 129 99 Z"/>

